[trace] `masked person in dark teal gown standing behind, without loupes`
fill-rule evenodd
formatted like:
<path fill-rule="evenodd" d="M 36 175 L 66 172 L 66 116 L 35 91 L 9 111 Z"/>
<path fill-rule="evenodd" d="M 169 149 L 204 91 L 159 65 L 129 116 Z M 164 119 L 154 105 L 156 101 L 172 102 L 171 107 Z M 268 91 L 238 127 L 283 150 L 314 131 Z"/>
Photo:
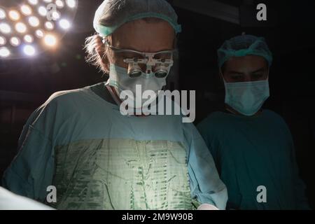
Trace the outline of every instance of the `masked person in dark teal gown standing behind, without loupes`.
<path fill-rule="evenodd" d="M 241 35 L 218 49 L 225 109 L 198 130 L 228 188 L 227 209 L 308 209 L 288 126 L 262 109 L 269 97 L 270 52 L 264 38 Z"/>

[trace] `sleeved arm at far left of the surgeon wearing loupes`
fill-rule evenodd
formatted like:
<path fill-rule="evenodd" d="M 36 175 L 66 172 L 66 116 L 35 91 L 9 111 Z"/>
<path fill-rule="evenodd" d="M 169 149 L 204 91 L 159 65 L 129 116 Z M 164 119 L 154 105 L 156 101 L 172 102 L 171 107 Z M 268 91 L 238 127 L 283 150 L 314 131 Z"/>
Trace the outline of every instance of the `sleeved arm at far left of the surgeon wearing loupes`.
<path fill-rule="evenodd" d="M 52 141 L 39 130 L 49 125 L 45 106 L 35 111 L 23 128 L 19 139 L 19 153 L 3 175 L 8 190 L 43 202 L 47 187 L 52 183 L 54 158 Z"/>

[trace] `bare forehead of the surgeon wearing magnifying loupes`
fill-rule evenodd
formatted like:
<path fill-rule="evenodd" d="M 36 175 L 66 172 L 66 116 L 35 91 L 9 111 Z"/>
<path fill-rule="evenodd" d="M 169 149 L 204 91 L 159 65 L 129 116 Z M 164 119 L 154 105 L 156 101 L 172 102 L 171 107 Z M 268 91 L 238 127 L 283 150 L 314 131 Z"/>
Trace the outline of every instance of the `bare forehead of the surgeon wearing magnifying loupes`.
<path fill-rule="evenodd" d="M 175 31 L 164 20 L 136 20 L 128 22 L 115 31 L 113 45 L 118 48 L 140 52 L 158 52 L 174 47 Z"/>

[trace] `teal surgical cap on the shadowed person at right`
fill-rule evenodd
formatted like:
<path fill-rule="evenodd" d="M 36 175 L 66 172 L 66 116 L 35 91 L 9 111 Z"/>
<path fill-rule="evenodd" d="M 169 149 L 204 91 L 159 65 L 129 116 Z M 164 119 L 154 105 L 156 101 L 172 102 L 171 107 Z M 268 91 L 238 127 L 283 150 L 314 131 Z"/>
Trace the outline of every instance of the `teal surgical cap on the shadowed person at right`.
<path fill-rule="evenodd" d="M 225 41 L 218 49 L 218 65 L 223 64 L 231 57 L 243 57 L 246 55 L 257 55 L 264 57 L 268 65 L 272 65 L 272 52 L 263 37 L 253 35 L 241 35 Z"/>

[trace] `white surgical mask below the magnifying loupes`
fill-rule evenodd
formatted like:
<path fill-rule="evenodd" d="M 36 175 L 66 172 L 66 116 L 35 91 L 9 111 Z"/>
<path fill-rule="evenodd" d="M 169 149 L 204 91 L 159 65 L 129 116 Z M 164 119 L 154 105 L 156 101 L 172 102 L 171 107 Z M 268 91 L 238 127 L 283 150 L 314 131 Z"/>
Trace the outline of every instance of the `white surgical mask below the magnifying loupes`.
<path fill-rule="evenodd" d="M 128 99 L 133 102 L 139 99 L 142 104 L 144 104 L 148 99 L 142 99 L 143 92 L 152 90 L 158 97 L 158 92 L 166 85 L 166 77 L 156 78 L 154 73 L 143 73 L 139 78 L 130 78 L 127 74 L 127 69 L 115 64 L 110 64 L 108 84 L 115 88 L 118 96 L 120 96 L 121 92 L 124 90 L 130 90 L 132 94 L 127 94 Z M 141 95 L 136 94 L 136 85 L 141 85 Z"/>

